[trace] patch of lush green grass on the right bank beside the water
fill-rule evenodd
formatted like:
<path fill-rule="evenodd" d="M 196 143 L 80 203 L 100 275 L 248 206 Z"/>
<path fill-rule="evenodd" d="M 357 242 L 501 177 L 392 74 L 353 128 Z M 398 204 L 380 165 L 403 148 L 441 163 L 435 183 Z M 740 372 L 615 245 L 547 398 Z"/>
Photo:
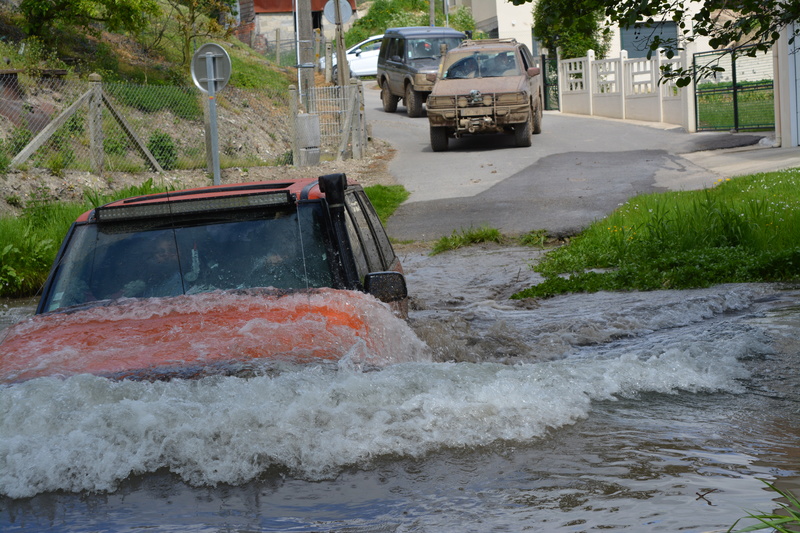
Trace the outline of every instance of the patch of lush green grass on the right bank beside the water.
<path fill-rule="evenodd" d="M 632 198 L 534 267 L 515 298 L 800 280 L 800 169 Z"/>

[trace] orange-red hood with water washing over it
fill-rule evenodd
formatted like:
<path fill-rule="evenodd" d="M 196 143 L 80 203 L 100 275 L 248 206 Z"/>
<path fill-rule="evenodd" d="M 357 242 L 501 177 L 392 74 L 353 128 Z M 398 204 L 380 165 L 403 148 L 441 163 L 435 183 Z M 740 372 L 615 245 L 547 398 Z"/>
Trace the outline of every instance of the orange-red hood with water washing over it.
<path fill-rule="evenodd" d="M 37 315 L 7 330 L 0 383 L 90 373 L 118 379 L 234 373 L 243 363 L 386 364 L 419 355 L 408 325 L 372 296 L 335 289 L 119 300 Z M 419 343 L 416 337 L 414 340 Z"/>

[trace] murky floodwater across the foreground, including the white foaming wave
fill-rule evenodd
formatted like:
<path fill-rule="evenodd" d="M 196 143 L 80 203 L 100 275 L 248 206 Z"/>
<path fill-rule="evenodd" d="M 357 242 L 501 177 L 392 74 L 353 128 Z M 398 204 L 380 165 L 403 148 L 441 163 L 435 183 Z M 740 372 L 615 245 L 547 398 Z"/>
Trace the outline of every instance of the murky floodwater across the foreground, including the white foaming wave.
<path fill-rule="evenodd" d="M 3 386 L 0 529 L 708 532 L 800 487 L 800 288 L 509 301 L 536 253 L 401 251 L 433 362 Z"/>

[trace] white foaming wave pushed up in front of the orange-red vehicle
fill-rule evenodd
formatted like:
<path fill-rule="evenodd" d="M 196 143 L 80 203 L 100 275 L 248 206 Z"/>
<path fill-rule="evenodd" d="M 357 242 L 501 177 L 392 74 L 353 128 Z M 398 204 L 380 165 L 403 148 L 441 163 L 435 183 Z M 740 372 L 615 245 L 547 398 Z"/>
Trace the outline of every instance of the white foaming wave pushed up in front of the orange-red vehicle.
<path fill-rule="evenodd" d="M 527 441 L 586 417 L 596 401 L 737 391 L 746 350 L 376 372 L 345 361 L 338 370 L 155 383 L 39 378 L 0 388 L 0 492 L 113 490 L 159 468 L 193 484 L 242 483 L 271 466 L 321 479 L 381 456 Z"/>

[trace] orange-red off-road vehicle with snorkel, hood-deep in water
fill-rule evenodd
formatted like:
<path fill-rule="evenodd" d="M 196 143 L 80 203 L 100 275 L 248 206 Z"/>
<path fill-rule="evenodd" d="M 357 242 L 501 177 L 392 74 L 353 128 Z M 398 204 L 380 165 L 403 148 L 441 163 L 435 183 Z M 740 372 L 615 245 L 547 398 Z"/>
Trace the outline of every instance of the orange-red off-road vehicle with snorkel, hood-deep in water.
<path fill-rule="evenodd" d="M 235 373 L 355 346 L 375 356 L 406 296 L 372 205 L 344 174 L 128 198 L 72 225 L 37 315 L 0 339 L 0 382 Z"/>

